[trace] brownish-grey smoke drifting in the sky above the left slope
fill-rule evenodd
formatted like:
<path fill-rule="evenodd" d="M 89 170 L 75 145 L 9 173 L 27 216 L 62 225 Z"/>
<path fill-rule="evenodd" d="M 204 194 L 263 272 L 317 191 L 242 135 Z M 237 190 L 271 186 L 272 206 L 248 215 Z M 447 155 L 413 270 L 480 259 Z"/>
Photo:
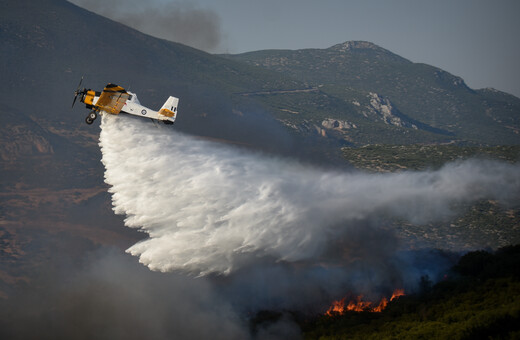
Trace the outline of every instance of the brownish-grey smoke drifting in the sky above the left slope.
<path fill-rule="evenodd" d="M 221 43 L 220 18 L 188 2 L 72 0 L 72 3 L 152 36 L 204 51 Z"/>

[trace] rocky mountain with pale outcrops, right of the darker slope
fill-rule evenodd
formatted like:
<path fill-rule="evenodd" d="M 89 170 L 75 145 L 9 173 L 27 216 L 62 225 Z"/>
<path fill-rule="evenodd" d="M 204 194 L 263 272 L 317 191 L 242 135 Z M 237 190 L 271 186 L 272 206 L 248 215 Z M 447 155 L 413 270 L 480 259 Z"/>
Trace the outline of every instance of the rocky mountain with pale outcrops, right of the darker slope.
<path fill-rule="evenodd" d="M 323 101 L 334 103 L 323 110 L 313 108 L 314 112 L 325 111 L 323 114 L 328 115 L 322 124 L 325 128 L 326 122 L 333 119 L 351 121 L 358 130 L 371 130 L 363 117 L 404 128 L 389 130 L 383 138 L 373 133 L 380 127 L 369 136 L 343 129 L 344 137 L 354 143 L 443 139 L 475 144 L 520 143 L 520 99 L 492 89 L 472 90 L 459 77 L 430 65 L 412 63 L 369 42 L 225 57 L 279 72 L 319 89 Z M 283 112 L 279 116 L 294 126 L 310 119 L 308 115 Z M 434 135 L 413 133 L 414 129 Z"/>

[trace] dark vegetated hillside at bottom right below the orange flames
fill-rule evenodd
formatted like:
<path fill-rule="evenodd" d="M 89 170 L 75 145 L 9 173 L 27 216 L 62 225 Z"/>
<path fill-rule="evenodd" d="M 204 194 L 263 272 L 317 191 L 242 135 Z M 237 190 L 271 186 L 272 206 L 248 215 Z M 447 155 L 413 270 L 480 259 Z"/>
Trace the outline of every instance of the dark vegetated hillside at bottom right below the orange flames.
<path fill-rule="evenodd" d="M 520 245 L 462 256 L 445 280 L 390 302 L 382 313 L 320 316 L 306 339 L 505 339 L 520 337 Z"/>

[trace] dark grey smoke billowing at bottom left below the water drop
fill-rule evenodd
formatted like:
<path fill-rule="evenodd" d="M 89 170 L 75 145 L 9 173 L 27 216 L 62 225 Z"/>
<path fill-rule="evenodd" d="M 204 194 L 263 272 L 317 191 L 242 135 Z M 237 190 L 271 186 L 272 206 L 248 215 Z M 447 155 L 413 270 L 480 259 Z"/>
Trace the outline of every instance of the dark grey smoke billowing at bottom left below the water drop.
<path fill-rule="evenodd" d="M 89 255 L 75 266 L 49 263 L 30 286 L 2 300 L 0 337 L 249 338 L 247 323 L 207 280 L 151 272 L 116 249 Z"/>

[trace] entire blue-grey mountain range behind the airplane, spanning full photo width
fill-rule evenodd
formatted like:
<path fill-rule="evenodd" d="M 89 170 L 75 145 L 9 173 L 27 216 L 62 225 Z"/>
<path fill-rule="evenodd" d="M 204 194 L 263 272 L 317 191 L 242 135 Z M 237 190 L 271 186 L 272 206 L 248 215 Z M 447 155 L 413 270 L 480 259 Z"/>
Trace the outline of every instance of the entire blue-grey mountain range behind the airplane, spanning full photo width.
<path fill-rule="evenodd" d="M 520 142 L 520 99 L 474 91 L 368 42 L 216 56 L 64 0 L 1 0 L 0 9 L 0 105 L 79 147 L 76 137 L 93 132 L 83 125 L 84 108 L 69 106 L 82 75 L 88 87 L 129 87 L 151 107 L 180 97 L 176 129 L 285 154 L 319 158 L 345 144 Z"/>

